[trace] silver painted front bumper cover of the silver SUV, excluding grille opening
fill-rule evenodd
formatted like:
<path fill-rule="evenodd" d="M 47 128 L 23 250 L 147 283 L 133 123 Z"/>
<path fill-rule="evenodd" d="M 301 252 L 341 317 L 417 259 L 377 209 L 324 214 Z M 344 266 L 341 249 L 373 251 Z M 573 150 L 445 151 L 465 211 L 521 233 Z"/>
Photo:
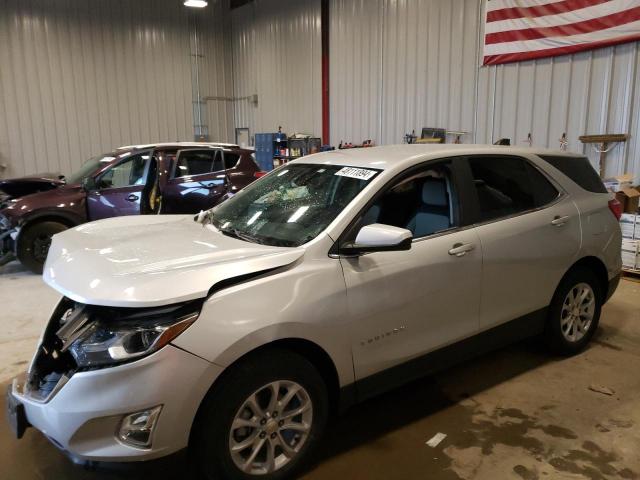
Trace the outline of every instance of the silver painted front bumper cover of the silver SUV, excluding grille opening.
<path fill-rule="evenodd" d="M 29 425 L 76 461 L 162 457 L 188 445 L 202 399 L 222 368 L 167 345 L 142 360 L 73 375 L 53 398 L 34 400 L 14 384 Z M 125 415 L 161 405 L 151 448 L 116 438 Z"/>

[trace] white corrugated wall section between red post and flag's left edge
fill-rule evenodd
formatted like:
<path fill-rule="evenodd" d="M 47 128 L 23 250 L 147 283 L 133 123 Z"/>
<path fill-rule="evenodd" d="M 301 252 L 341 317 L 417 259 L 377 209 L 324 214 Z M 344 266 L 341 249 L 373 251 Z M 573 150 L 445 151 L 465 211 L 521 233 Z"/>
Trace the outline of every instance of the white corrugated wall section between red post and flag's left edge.
<path fill-rule="evenodd" d="M 473 131 L 479 7 L 332 0 L 332 142 L 400 143 L 424 126 Z"/>

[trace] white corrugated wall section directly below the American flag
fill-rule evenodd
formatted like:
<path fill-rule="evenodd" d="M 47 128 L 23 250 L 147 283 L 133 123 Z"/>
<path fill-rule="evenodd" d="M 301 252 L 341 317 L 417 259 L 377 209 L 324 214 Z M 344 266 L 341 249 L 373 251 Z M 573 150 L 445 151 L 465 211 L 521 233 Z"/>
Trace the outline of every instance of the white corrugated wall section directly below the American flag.
<path fill-rule="evenodd" d="M 526 145 L 599 154 L 585 134 L 628 133 L 607 154 L 606 174 L 635 173 L 640 181 L 640 59 L 638 43 L 480 69 L 478 142 L 501 137 Z M 494 95 L 495 92 L 495 95 Z"/>

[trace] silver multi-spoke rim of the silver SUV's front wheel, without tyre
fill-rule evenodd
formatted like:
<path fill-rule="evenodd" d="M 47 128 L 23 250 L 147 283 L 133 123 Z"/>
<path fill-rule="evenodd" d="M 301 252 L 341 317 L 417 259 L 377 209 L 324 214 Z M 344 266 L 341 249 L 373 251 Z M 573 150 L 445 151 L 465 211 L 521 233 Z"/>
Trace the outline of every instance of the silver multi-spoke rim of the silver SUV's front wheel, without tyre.
<path fill-rule="evenodd" d="M 300 384 L 279 380 L 264 385 L 244 401 L 233 419 L 231 458 L 247 474 L 279 470 L 300 452 L 312 420 L 311 398 Z"/>

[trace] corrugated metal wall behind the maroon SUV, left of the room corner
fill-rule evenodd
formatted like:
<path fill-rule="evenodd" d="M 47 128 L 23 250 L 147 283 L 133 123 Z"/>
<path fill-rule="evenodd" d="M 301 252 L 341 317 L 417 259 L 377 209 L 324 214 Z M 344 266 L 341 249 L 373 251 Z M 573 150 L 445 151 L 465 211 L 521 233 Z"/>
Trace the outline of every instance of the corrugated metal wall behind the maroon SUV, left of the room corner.
<path fill-rule="evenodd" d="M 221 0 L 199 12 L 203 95 L 232 95 L 226 12 Z M 122 144 L 193 139 L 190 34 L 174 0 L 2 0 L 5 176 L 68 173 Z M 233 138 L 230 110 L 209 107 L 212 138 Z"/>

